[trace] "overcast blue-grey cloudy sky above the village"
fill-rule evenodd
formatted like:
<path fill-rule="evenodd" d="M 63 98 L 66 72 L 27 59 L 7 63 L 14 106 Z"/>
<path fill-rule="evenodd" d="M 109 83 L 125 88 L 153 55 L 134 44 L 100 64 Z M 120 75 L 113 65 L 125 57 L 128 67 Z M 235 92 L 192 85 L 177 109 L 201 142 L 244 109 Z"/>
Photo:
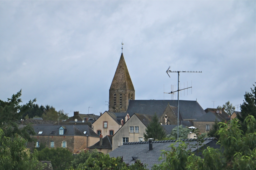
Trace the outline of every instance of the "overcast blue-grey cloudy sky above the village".
<path fill-rule="evenodd" d="M 170 66 L 202 71 L 180 73 L 180 100 L 240 105 L 256 82 L 255 2 L 0 1 L 0 99 L 22 89 L 23 104 L 99 115 L 123 42 L 135 100 L 172 99 Z"/>

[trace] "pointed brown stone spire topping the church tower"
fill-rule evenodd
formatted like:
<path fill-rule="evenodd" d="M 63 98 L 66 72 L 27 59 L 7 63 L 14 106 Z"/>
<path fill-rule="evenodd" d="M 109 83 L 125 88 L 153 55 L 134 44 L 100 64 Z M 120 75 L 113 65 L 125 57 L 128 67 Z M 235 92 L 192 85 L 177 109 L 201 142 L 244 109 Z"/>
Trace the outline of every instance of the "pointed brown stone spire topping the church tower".
<path fill-rule="evenodd" d="M 130 78 L 126 63 L 124 61 L 123 53 L 121 54 L 121 57 L 117 65 L 116 72 L 109 90 L 133 90 L 134 91 L 132 79 Z"/>

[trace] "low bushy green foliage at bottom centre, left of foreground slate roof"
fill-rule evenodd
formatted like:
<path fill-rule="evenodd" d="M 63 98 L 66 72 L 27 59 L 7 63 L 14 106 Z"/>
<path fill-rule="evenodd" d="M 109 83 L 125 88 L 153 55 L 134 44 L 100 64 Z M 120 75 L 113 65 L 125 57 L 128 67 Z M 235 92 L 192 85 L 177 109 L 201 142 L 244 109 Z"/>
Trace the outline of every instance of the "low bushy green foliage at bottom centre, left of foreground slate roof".
<path fill-rule="evenodd" d="M 134 164 L 129 165 L 123 162 L 123 157 L 109 157 L 108 154 L 100 153 L 93 158 L 91 155 L 85 163 L 78 165 L 76 170 L 146 170 L 146 165 L 142 164 L 140 160 L 136 160 Z M 74 168 L 70 168 L 74 170 Z"/>

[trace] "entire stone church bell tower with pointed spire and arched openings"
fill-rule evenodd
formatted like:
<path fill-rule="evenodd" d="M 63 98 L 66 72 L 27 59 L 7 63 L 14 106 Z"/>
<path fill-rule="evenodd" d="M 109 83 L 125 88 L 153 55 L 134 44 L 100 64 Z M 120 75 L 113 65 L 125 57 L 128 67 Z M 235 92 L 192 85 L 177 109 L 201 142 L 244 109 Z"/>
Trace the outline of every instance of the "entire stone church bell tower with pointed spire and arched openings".
<path fill-rule="evenodd" d="M 126 112 L 129 100 L 134 99 L 135 90 L 122 53 L 109 89 L 108 110 L 110 112 Z"/>

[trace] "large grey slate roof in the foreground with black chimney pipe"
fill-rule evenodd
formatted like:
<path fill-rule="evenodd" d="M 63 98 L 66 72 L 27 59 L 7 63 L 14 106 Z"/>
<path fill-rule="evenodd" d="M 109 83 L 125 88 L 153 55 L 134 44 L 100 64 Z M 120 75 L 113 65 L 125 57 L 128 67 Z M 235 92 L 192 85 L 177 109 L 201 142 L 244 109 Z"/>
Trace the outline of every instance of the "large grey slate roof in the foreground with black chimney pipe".
<path fill-rule="evenodd" d="M 135 160 L 132 157 L 137 157 L 138 160 L 143 164 L 147 164 L 147 168 L 151 169 L 154 164 L 160 164 L 162 161 L 159 161 L 162 151 L 170 151 L 170 144 L 174 144 L 175 147 L 178 146 L 177 140 L 165 140 L 165 141 L 153 141 L 153 149 L 149 150 L 149 142 L 125 142 L 122 146 L 116 148 L 115 150 L 109 153 L 110 157 L 123 156 L 123 161 L 125 163 L 133 164 Z M 185 143 L 190 146 L 196 146 L 196 139 L 183 139 Z M 213 148 L 220 148 L 219 145 L 216 145 L 217 140 L 214 137 L 204 138 L 203 144 Z M 201 146 L 198 146 L 199 148 Z M 186 150 L 188 150 L 187 148 Z M 196 148 L 192 148 L 191 151 L 196 151 Z"/>

